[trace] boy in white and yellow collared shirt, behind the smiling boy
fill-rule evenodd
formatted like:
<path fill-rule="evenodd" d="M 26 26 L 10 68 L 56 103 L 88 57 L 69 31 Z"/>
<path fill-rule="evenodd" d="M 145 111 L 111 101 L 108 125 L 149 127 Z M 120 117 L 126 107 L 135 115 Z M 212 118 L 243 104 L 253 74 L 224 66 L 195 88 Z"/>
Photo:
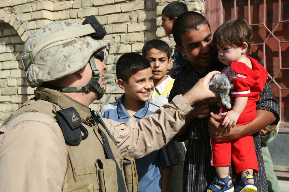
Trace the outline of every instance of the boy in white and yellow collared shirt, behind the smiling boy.
<path fill-rule="evenodd" d="M 149 102 L 163 106 L 168 103 L 168 96 L 175 81 L 175 79 L 166 75 L 166 71 L 171 64 L 171 49 L 166 42 L 155 39 L 148 41 L 144 45 L 142 55 L 149 60 L 153 73 L 154 88 L 151 92 Z M 180 164 L 173 167 L 173 182 L 171 182 L 169 186 L 169 191 L 183 191 L 183 167 L 186 148 L 184 147 L 184 143 L 178 141 L 171 142 L 175 143 Z"/>

